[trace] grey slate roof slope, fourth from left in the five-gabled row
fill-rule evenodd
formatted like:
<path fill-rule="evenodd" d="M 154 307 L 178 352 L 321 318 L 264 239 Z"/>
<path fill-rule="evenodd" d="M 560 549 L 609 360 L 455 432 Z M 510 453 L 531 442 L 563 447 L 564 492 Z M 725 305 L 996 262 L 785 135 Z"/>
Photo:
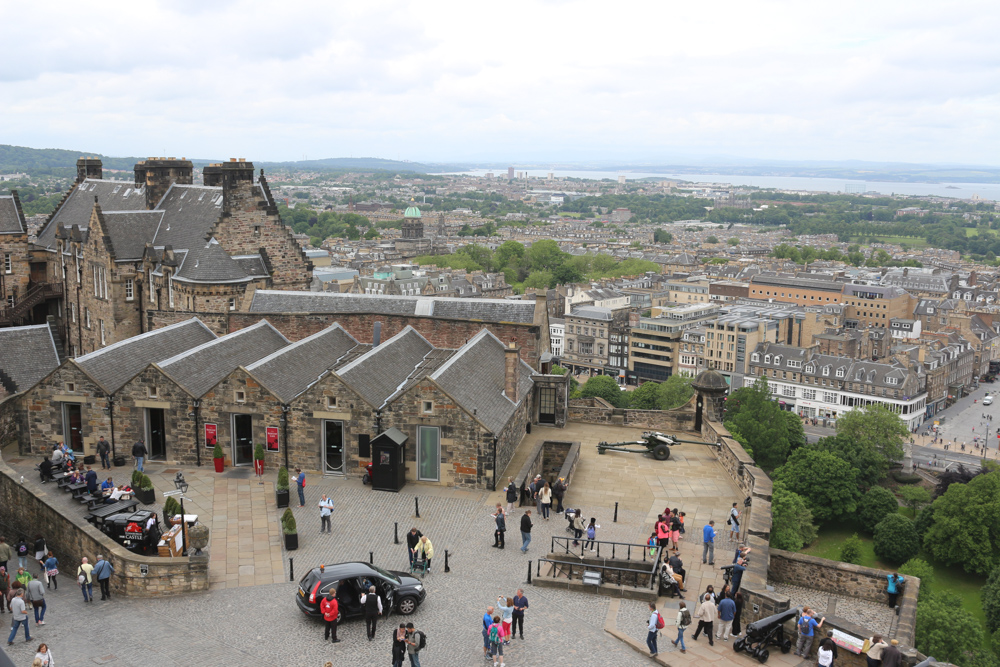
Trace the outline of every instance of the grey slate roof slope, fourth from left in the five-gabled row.
<path fill-rule="evenodd" d="M 397 393 L 410 378 L 434 346 L 406 327 L 398 334 L 366 354 L 337 369 L 344 382 L 353 387 L 361 397 L 381 408 L 390 396 Z"/>

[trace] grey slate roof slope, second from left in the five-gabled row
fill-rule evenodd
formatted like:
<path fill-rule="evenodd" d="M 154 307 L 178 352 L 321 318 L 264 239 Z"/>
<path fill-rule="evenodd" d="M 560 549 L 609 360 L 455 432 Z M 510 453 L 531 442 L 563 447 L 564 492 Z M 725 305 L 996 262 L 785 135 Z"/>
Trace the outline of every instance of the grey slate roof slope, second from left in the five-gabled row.
<path fill-rule="evenodd" d="M 159 362 L 167 375 L 195 398 L 204 396 L 240 366 L 248 366 L 287 346 L 288 339 L 261 320 Z"/>

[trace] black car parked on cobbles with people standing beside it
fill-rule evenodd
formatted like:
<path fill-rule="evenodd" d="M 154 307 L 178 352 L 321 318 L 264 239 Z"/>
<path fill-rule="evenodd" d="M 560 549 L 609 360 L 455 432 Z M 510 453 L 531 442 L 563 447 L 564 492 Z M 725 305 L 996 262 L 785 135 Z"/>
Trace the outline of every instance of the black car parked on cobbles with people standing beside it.
<path fill-rule="evenodd" d="M 368 563 L 337 563 L 320 565 L 302 577 L 295 592 L 295 603 L 308 616 L 322 616 L 320 598 L 335 590 L 340 609 L 338 621 L 364 616 L 361 595 L 370 586 L 375 586 L 382 599 L 385 616 L 392 611 L 408 616 L 416 611 L 427 595 L 423 582 L 405 572 L 390 572 Z"/>

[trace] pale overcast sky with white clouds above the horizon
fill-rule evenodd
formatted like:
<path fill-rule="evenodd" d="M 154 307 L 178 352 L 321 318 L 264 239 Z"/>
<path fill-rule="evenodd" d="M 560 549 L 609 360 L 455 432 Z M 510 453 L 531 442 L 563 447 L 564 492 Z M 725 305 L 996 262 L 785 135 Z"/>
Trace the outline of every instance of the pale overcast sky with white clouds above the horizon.
<path fill-rule="evenodd" d="M 6 2 L 0 143 L 1000 164 L 1000 3 Z"/>

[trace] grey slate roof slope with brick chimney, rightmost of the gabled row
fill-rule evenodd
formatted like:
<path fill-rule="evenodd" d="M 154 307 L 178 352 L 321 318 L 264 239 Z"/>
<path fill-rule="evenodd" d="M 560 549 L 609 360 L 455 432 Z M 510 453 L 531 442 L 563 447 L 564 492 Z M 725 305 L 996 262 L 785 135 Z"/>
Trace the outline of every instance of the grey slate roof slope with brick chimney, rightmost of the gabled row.
<path fill-rule="evenodd" d="M 483 329 L 463 345 L 431 378 L 494 435 L 500 433 L 524 397 L 531 391 L 531 367 L 519 361 L 518 403 L 504 394 L 504 344 Z"/>

